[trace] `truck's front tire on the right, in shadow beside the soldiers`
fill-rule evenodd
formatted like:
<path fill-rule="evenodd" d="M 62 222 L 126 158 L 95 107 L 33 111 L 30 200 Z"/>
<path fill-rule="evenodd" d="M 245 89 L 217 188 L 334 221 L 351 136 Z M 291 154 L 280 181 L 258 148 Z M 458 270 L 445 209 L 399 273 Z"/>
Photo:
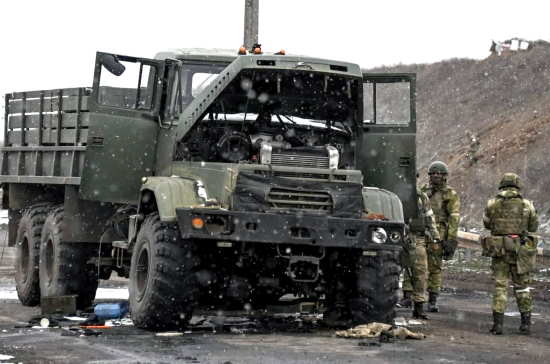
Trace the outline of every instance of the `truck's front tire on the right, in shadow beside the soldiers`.
<path fill-rule="evenodd" d="M 399 288 L 399 253 L 378 251 L 357 263 L 357 295 L 350 309 L 356 323 L 392 323 Z"/>

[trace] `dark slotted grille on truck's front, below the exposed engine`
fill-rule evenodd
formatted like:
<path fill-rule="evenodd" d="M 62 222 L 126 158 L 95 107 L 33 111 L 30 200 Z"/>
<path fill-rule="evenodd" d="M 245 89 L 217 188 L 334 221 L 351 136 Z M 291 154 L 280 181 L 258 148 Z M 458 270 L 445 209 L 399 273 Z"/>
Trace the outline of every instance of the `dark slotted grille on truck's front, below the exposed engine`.
<path fill-rule="evenodd" d="M 275 209 L 332 211 L 332 197 L 325 191 L 272 188 L 267 201 Z"/>

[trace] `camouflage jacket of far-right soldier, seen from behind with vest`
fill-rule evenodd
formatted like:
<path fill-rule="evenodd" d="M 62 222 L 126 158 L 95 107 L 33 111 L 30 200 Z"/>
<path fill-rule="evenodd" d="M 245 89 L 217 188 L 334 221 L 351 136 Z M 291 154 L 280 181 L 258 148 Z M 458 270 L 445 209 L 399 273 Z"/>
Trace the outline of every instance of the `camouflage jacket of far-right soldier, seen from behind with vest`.
<path fill-rule="evenodd" d="M 516 188 L 508 187 L 487 202 L 483 224 L 493 235 L 535 233 L 538 216 L 531 201 Z"/>

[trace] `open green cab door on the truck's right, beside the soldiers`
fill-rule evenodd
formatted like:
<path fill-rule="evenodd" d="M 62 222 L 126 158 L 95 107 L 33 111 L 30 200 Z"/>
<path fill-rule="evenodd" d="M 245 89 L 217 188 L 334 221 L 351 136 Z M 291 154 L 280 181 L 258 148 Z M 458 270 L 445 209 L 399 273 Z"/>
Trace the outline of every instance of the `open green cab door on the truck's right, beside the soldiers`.
<path fill-rule="evenodd" d="M 364 184 L 394 192 L 406 222 L 417 216 L 416 75 L 363 73 L 357 166 Z"/>

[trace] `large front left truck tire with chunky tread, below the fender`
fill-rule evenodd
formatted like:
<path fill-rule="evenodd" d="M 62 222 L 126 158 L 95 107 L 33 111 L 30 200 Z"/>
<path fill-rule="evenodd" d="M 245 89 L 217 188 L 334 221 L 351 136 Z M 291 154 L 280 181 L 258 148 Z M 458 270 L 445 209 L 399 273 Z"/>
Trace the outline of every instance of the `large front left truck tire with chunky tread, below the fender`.
<path fill-rule="evenodd" d="M 192 241 L 182 240 L 176 224 L 145 218 L 132 252 L 130 311 L 143 329 L 185 327 L 197 303 L 198 259 Z"/>

